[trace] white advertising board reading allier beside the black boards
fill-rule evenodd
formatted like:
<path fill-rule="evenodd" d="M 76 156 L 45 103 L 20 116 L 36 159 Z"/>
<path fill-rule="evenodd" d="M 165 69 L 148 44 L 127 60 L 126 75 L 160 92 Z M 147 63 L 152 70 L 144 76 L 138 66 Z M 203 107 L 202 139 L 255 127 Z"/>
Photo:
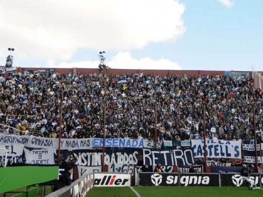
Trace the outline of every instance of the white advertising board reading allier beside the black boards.
<path fill-rule="evenodd" d="M 124 173 L 94 173 L 94 187 L 131 186 L 131 175 Z"/>

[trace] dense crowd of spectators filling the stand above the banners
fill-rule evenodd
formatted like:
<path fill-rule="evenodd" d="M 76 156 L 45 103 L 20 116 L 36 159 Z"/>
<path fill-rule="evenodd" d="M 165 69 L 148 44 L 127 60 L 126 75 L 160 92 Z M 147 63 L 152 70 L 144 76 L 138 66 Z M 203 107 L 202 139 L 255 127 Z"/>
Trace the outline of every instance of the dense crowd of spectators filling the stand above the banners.
<path fill-rule="evenodd" d="M 119 83 L 122 82 L 122 83 Z M 62 99 L 63 97 L 63 99 Z M 253 110 L 263 137 L 263 92 L 241 76 L 6 72 L 0 75 L 0 133 L 62 138 L 210 139 L 250 143 Z M 12 127 L 16 128 L 13 129 Z M 18 130 L 17 130 L 18 129 Z"/>

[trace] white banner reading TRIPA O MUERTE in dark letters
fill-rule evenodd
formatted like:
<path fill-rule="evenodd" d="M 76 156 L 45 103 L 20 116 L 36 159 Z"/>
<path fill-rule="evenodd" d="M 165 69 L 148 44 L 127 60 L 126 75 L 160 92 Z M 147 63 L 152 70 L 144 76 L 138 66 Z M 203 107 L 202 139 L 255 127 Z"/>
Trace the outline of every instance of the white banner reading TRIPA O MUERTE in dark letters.
<path fill-rule="evenodd" d="M 28 150 L 24 148 L 26 163 L 38 164 L 38 165 L 51 165 L 55 164 L 55 149 L 38 149 Z"/>

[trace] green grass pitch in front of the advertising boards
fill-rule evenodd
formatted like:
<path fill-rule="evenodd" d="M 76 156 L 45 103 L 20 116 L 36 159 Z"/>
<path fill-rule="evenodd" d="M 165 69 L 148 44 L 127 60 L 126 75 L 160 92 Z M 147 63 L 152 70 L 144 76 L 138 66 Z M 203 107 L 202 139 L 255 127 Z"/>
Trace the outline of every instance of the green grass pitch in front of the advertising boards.
<path fill-rule="evenodd" d="M 141 197 L 263 197 L 247 187 L 133 187 Z M 88 197 L 136 197 L 129 187 L 94 187 Z"/>

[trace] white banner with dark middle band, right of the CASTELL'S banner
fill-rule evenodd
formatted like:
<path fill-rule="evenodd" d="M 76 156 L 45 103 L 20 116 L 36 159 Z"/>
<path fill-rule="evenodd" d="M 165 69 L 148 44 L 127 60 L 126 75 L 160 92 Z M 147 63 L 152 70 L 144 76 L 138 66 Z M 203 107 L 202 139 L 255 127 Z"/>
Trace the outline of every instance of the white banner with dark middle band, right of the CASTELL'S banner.
<path fill-rule="evenodd" d="M 255 163 L 255 147 L 254 144 L 242 144 L 242 150 L 244 154 L 245 163 Z M 257 144 L 257 159 L 258 163 L 262 163 L 260 144 Z"/>

